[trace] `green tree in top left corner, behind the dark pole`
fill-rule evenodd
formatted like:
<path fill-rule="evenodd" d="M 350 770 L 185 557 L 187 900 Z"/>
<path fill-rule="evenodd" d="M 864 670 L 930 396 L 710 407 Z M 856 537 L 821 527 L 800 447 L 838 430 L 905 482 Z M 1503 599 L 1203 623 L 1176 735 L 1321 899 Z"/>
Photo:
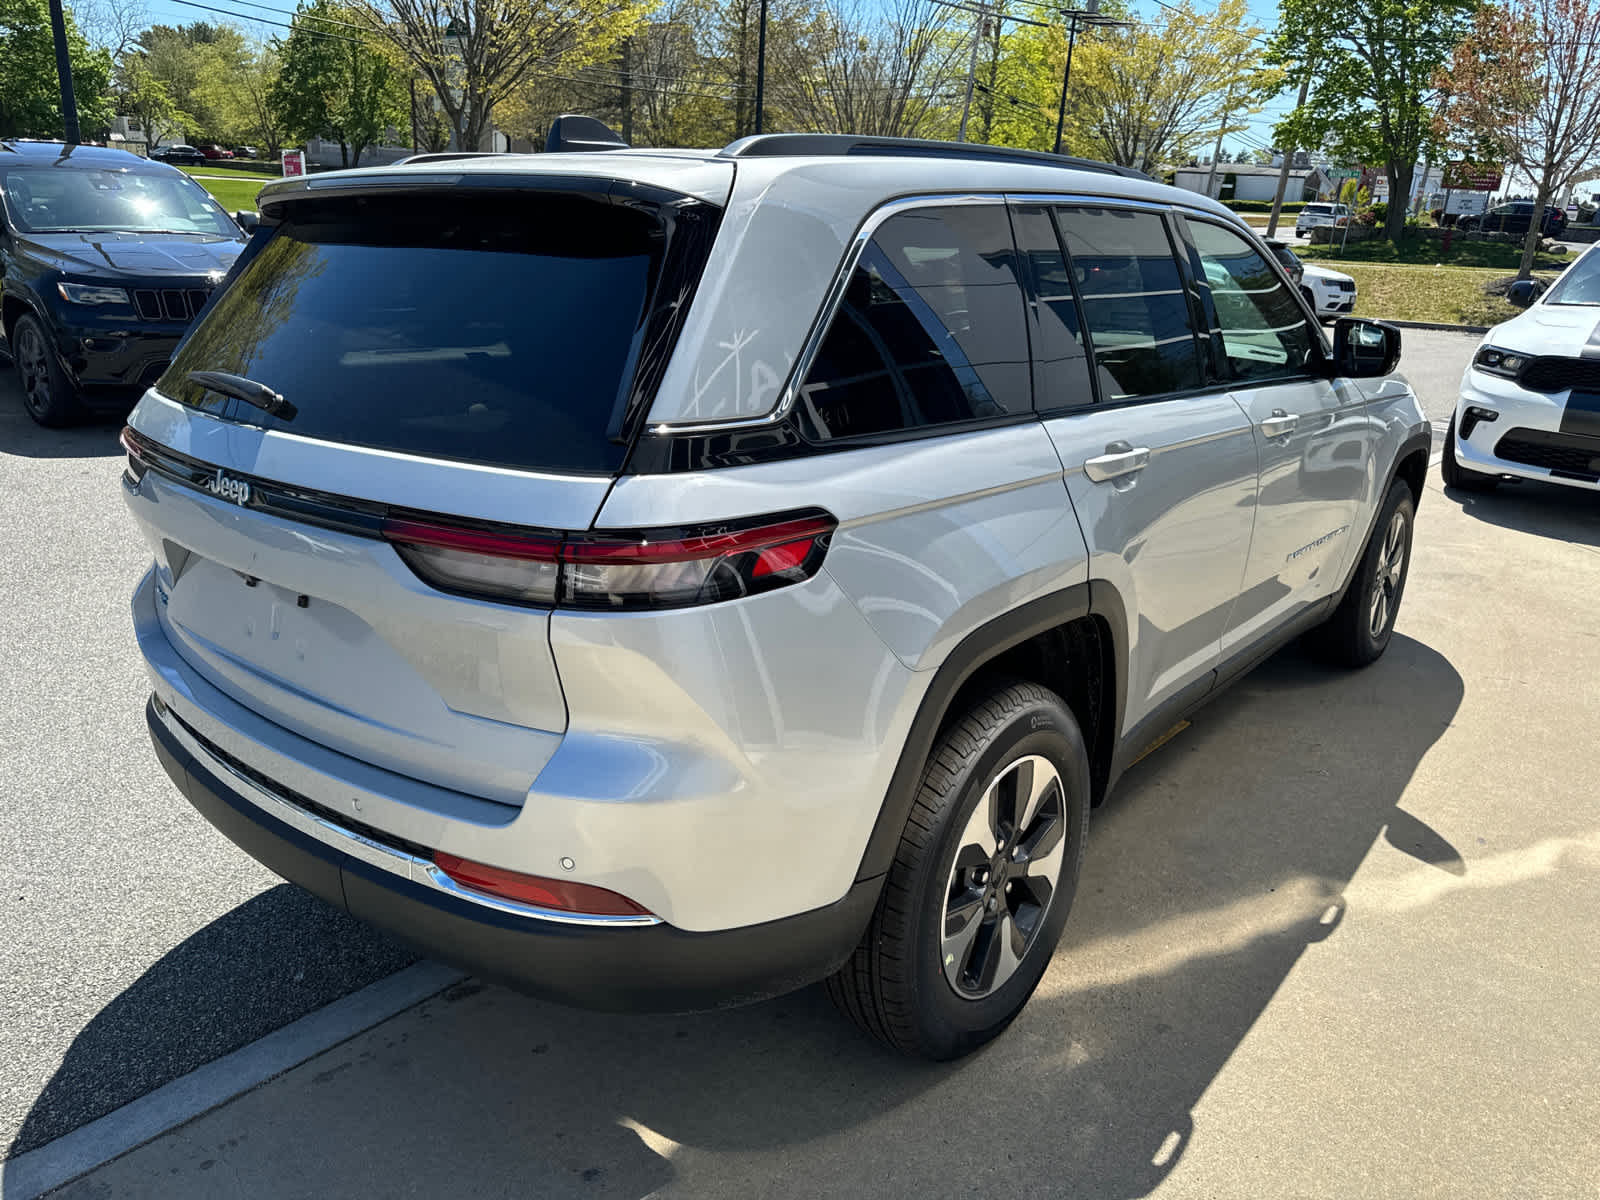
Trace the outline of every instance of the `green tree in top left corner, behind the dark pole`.
<path fill-rule="evenodd" d="M 67 10 L 67 56 L 85 138 L 110 126 L 110 54 L 91 50 Z M 59 138 L 61 83 L 46 0 L 0 0 L 0 138 Z"/>

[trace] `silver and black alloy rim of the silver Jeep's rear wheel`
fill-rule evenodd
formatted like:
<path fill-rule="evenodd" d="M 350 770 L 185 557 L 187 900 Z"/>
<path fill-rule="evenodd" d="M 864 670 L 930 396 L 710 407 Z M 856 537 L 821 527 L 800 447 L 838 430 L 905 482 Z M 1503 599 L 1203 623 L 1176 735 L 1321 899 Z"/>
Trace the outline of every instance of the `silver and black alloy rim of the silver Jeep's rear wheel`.
<path fill-rule="evenodd" d="M 946 883 L 939 958 L 963 1000 L 1002 987 L 1038 938 L 1066 853 L 1061 774 L 1037 754 L 1005 766 L 962 832 Z"/>

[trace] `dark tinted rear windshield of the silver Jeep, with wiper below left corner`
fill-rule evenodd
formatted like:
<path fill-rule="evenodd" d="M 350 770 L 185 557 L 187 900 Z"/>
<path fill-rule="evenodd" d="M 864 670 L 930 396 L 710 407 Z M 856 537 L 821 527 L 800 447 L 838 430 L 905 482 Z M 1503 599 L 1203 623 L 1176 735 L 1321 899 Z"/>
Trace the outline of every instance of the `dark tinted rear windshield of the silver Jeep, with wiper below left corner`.
<path fill-rule="evenodd" d="M 654 218 L 578 194 L 302 202 L 158 387 L 328 442 L 614 472 L 662 250 Z M 245 376 L 296 411 L 269 416 L 190 371 Z"/>

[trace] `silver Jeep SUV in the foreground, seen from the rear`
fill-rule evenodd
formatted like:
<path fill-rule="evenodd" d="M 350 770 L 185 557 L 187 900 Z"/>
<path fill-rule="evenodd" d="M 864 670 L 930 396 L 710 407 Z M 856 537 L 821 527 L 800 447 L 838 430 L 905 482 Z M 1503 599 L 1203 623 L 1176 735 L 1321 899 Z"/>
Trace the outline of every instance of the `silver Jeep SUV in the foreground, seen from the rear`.
<path fill-rule="evenodd" d="M 1293 637 L 1376 659 L 1429 424 L 1227 210 L 765 136 L 269 186 L 125 434 L 173 781 L 600 1008 L 995 1037 L 1090 808 Z"/>

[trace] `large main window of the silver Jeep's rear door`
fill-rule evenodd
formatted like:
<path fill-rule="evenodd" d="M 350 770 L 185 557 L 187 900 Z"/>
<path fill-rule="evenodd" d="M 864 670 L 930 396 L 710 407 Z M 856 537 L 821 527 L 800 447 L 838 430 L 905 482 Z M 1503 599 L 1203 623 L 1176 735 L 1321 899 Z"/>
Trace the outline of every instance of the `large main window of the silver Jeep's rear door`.
<path fill-rule="evenodd" d="M 1102 398 L 1198 387 L 1189 296 L 1162 218 L 1118 208 L 1058 208 L 1056 221 L 1083 299 Z"/>

